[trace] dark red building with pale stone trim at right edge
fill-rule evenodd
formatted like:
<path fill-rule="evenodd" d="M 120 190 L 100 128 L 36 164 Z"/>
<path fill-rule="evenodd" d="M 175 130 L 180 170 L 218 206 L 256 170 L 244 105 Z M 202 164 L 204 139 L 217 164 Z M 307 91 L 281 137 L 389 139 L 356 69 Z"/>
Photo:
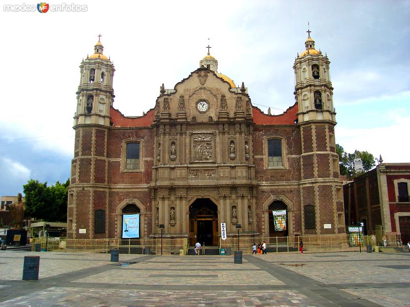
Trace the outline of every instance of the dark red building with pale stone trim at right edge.
<path fill-rule="evenodd" d="M 410 163 L 382 163 L 343 186 L 346 225 L 363 222 L 364 232 L 410 240 Z"/>

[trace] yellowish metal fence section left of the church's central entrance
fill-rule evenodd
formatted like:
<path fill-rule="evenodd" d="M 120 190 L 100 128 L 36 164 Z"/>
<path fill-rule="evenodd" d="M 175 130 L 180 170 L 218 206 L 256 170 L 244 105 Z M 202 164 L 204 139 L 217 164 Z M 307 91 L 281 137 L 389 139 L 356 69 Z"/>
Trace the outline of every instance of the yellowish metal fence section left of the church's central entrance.
<path fill-rule="evenodd" d="M 110 253 L 117 249 L 120 254 L 146 254 L 146 255 L 185 255 L 187 253 L 188 240 L 186 238 L 140 238 L 140 239 L 68 239 L 59 238 L 58 240 L 48 240 L 46 238 L 34 238 L 32 250 L 35 245 L 40 244 L 42 250 L 70 252 L 94 252 Z M 47 246 L 47 247 L 46 247 Z"/>

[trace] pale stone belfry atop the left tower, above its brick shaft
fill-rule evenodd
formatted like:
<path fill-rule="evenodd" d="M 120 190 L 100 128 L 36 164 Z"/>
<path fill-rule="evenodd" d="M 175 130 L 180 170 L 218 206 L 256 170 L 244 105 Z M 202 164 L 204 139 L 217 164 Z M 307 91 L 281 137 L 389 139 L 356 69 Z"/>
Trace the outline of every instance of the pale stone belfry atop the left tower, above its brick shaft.
<path fill-rule="evenodd" d="M 80 64 L 80 84 L 77 91 L 77 109 L 74 126 L 78 124 L 99 124 L 110 126 L 110 106 L 114 100 L 112 87 L 114 65 L 104 54 L 99 40 L 94 54 L 87 56 Z"/>

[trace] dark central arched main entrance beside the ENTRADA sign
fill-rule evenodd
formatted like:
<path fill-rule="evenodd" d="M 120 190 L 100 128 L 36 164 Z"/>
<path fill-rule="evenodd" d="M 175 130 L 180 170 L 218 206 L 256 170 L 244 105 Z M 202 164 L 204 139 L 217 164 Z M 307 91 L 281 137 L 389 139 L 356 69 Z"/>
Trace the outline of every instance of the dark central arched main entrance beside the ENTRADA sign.
<path fill-rule="evenodd" d="M 218 245 L 218 207 L 210 199 L 196 199 L 189 206 L 189 244 Z"/>

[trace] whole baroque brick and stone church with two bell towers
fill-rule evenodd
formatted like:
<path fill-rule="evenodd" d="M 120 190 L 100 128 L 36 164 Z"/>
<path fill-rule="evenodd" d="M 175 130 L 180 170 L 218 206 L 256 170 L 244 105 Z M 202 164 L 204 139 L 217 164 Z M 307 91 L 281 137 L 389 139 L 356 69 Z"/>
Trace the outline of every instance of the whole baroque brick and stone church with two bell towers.
<path fill-rule="evenodd" d="M 296 102 L 281 115 L 218 73 L 208 48 L 146 114 L 126 117 L 98 40 L 80 64 L 68 237 L 121 238 L 132 213 L 139 237 L 191 245 L 218 245 L 221 223 L 228 237 L 238 224 L 244 236 L 344 233 L 330 60 L 308 34 L 293 64 Z"/>

